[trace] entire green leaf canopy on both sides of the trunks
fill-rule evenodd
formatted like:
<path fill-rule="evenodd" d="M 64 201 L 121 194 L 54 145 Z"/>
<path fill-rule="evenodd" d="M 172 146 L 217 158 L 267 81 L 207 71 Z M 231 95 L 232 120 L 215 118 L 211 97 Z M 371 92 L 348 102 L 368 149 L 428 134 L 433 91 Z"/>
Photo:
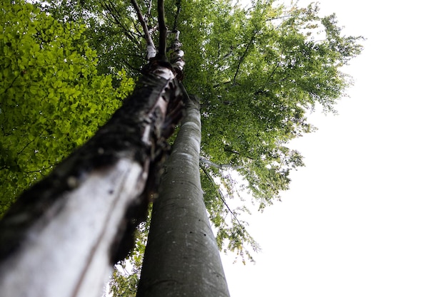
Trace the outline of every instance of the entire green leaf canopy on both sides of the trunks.
<path fill-rule="evenodd" d="M 93 135 L 145 63 L 130 1 L 35 2 L 0 9 L 0 212 Z M 156 3 L 139 5 L 155 31 Z M 335 111 L 350 85 L 341 68 L 361 53 L 362 37 L 344 36 L 335 15 L 319 16 L 318 4 L 165 5 L 169 29 L 181 31 L 184 85 L 201 98 L 210 219 L 221 248 L 243 254 L 244 243 L 256 244 L 234 216 L 243 207 L 228 209 L 226 199 L 246 191 L 263 209 L 288 189 L 288 173 L 303 162 L 287 142 L 314 130 L 306 113 L 316 105 Z"/>

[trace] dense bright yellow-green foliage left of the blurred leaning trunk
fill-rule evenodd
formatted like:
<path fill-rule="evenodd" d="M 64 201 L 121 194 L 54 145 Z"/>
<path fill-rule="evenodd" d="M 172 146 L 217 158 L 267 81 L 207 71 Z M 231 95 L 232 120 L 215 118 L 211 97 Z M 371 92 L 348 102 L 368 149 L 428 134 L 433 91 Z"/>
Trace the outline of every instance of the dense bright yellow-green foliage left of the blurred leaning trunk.
<path fill-rule="evenodd" d="M 98 75 L 83 25 L 63 26 L 23 1 L 1 6 L 0 24 L 1 216 L 94 135 L 134 83 L 125 71 Z"/>

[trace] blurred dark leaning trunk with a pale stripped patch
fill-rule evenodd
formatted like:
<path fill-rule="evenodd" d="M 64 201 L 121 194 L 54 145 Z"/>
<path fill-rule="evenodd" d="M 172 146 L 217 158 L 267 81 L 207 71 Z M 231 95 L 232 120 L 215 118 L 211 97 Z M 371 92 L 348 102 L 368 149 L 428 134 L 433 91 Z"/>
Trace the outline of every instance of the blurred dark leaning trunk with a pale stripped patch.
<path fill-rule="evenodd" d="M 1 220 L 2 297 L 101 296 L 129 252 L 184 110 L 171 66 L 144 72 L 111 120 Z"/>

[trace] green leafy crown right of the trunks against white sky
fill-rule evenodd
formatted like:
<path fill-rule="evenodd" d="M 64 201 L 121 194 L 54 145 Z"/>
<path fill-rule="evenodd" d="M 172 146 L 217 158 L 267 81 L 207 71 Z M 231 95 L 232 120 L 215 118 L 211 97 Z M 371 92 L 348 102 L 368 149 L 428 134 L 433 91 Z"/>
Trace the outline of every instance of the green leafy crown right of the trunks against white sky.
<path fill-rule="evenodd" d="M 288 188 L 288 172 L 303 165 L 286 143 L 314 130 L 306 111 L 316 104 L 335 111 L 349 85 L 340 68 L 361 52 L 362 38 L 341 36 L 335 16 L 321 18 L 316 4 L 182 5 L 184 83 L 202 98 L 203 156 L 239 168 L 262 209 Z"/>

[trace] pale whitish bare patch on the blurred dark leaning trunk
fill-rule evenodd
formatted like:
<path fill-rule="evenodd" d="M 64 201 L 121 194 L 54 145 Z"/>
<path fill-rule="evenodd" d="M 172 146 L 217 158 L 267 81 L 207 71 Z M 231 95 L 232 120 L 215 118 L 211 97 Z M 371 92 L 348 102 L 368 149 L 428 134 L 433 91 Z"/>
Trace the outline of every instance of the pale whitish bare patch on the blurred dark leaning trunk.
<path fill-rule="evenodd" d="M 143 179 L 144 169 L 124 159 L 61 194 L 31 224 L 21 249 L 1 263 L 0 295 L 101 296 L 111 271 L 111 246 Z"/>

